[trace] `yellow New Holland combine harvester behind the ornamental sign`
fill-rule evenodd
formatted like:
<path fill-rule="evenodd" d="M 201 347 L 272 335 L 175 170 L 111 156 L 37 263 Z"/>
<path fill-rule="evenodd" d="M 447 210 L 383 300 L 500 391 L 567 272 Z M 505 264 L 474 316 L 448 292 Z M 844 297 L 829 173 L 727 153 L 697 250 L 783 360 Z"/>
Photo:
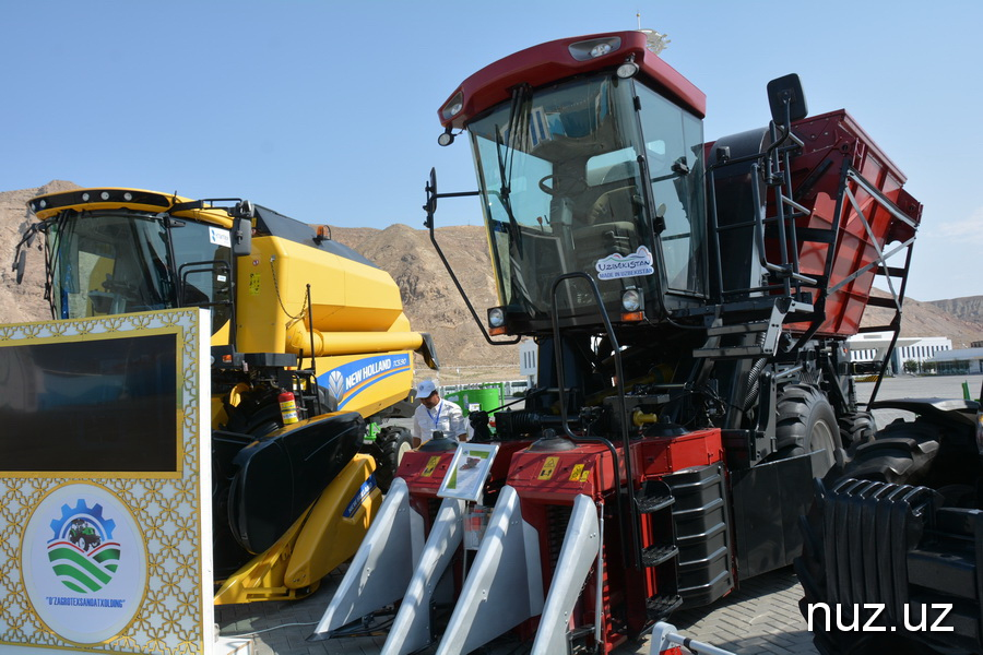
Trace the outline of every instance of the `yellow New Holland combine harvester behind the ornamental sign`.
<path fill-rule="evenodd" d="M 238 199 L 99 188 L 28 206 L 15 267 L 20 281 L 42 233 L 55 320 L 211 310 L 215 602 L 313 591 L 354 555 L 408 449 L 378 426 L 408 397 L 413 353 L 437 368 L 392 277 Z"/>

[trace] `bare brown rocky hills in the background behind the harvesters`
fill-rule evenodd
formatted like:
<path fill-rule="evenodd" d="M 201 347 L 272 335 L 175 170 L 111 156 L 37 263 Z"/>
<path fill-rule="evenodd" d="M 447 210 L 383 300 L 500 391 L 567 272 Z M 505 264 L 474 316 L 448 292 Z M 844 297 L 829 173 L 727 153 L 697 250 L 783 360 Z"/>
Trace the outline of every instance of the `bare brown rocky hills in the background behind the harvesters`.
<path fill-rule="evenodd" d="M 26 201 L 38 193 L 72 188 L 76 186 L 52 181 L 38 189 L 0 192 L 0 323 L 42 321 L 50 315 L 43 298 L 40 239 L 29 249 L 26 274 L 20 286 L 15 284 L 11 263 L 23 228 L 34 219 L 26 210 Z M 442 227 L 436 235 L 484 321 L 486 309 L 497 300 L 483 228 Z M 393 276 L 413 327 L 434 337 L 443 365 L 441 382 L 518 376 L 518 346 L 492 346 L 485 342 L 426 230 L 406 225 L 391 225 L 386 229 L 334 227 L 332 238 L 358 250 Z M 872 307 L 864 315 L 864 324 L 885 324 L 890 317 L 888 310 Z M 947 336 L 956 348 L 983 340 L 983 296 L 933 302 L 909 298 L 904 301 L 902 334 Z"/>

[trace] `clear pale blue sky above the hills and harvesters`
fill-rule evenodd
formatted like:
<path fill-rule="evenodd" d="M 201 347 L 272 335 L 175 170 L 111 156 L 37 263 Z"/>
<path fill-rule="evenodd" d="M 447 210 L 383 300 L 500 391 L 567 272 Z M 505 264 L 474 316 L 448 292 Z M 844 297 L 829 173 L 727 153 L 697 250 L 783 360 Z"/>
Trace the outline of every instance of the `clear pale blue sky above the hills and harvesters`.
<path fill-rule="evenodd" d="M 763 126 L 797 72 L 809 109 L 846 108 L 925 205 L 909 297 L 983 294 L 975 1 L 853 3 L 170 1 L 0 4 L 0 190 L 83 186 L 241 196 L 308 223 L 423 226 L 424 183 L 474 188 L 437 108 L 537 43 L 637 26 L 708 96 L 708 139 Z M 438 224 L 479 223 L 446 201 Z"/>

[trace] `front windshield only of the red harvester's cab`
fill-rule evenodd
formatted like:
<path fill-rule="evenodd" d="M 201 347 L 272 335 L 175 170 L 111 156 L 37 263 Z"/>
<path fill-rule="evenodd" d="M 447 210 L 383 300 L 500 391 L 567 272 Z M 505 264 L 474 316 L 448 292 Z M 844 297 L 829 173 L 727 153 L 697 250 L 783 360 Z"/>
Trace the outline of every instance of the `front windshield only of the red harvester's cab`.
<path fill-rule="evenodd" d="M 506 104 L 469 126 L 502 300 L 548 315 L 557 276 L 583 272 L 614 307 L 626 285 L 649 284 L 653 271 L 638 164 L 603 159 L 631 150 L 629 85 L 580 80 L 522 95 L 516 111 Z M 638 260 L 633 275 L 604 271 L 626 258 Z M 557 308 L 596 312 L 583 279 L 559 287 Z"/>

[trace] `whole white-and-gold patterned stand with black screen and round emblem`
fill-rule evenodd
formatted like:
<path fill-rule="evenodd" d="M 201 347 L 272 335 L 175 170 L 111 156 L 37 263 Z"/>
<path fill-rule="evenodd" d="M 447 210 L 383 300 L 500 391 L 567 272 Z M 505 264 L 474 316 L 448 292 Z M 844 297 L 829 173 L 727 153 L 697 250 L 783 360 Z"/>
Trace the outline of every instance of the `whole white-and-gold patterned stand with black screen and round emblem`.
<path fill-rule="evenodd" d="M 20 426 L 0 434 L 3 653 L 212 652 L 209 325 L 197 308 L 0 325 L 0 389 L 25 389 L 0 394 Z M 61 365 L 117 344 L 95 385 Z"/>

